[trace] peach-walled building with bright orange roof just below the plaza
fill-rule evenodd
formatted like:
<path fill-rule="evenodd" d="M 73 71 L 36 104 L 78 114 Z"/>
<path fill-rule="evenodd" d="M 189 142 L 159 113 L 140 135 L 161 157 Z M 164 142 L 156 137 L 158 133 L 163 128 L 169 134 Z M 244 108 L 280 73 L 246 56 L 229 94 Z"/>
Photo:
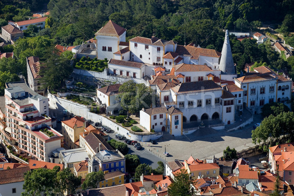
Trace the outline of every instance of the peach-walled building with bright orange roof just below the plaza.
<path fill-rule="evenodd" d="M 217 177 L 220 175 L 220 167 L 217 163 L 205 163 L 199 159 L 194 159 L 192 156 L 184 161 L 184 167 L 191 175 L 192 179 L 201 177 Z"/>

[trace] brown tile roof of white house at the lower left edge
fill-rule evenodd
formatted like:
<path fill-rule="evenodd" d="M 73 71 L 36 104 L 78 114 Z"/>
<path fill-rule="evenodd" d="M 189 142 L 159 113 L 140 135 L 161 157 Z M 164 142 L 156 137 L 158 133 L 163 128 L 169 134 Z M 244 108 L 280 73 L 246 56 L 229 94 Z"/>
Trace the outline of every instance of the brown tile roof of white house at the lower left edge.
<path fill-rule="evenodd" d="M 23 182 L 25 172 L 29 171 L 29 167 L 21 167 L 10 170 L 0 171 L 0 184 L 9 184 L 15 182 Z"/>

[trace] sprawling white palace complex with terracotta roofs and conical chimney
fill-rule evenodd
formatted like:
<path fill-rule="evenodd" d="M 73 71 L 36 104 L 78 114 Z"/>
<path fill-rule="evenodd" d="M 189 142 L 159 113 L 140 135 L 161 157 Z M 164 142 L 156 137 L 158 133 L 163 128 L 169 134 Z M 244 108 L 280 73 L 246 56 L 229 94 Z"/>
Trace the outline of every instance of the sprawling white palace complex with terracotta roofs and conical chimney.
<path fill-rule="evenodd" d="M 290 106 L 292 79 L 286 75 L 264 66 L 237 75 L 228 30 L 221 53 L 156 37 L 127 43 L 125 34 L 112 21 L 100 28 L 97 56 L 109 59 L 108 74 L 145 83 L 157 93 L 161 107 L 140 111 L 140 124 L 149 131 L 178 136 L 183 123 L 218 119 L 230 124 L 244 107 L 260 113 L 270 102 Z"/>

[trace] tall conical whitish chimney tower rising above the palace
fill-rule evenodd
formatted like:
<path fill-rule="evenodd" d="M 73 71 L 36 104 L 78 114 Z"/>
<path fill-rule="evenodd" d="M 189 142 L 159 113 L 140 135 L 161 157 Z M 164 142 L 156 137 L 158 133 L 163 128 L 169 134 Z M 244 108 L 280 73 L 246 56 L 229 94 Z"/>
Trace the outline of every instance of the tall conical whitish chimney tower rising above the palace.
<path fill-rule="evenodd" d="M 222 73 L 236 74 L 228 30 L 225 30 L 225 38 L 221 49 L 220 70 Z"/>

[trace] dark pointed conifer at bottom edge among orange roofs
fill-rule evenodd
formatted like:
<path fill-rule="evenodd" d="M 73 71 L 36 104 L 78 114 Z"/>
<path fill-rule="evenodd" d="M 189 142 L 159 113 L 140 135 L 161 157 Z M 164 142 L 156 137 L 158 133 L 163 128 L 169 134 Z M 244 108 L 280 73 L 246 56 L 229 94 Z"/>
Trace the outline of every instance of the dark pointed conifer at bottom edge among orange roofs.
<path fill-rule="evenodd" d="M 193 196 L 192 183 L 187 170 L 181 169 L 174 175 L 174 182 L 168 187 L 169 196 Z"/>

